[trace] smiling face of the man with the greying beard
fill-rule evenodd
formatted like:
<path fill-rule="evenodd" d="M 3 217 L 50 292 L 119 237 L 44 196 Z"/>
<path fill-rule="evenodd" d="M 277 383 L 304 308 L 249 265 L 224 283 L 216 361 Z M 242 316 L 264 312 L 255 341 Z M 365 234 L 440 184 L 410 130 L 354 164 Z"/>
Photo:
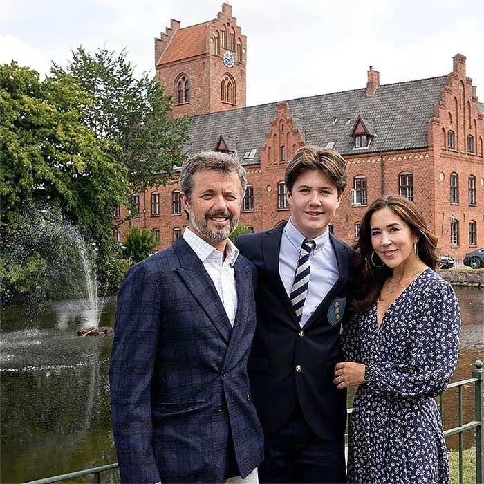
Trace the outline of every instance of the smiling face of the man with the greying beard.
<path fill-rule="evenodd" d="M 193 183 L 190 201 L 185 194 L 180 195 L 189 214 L 190 230 L 215 248 L 225 248 L 241 212 L 239 176 L 203 170 L 194 174 Z"/>

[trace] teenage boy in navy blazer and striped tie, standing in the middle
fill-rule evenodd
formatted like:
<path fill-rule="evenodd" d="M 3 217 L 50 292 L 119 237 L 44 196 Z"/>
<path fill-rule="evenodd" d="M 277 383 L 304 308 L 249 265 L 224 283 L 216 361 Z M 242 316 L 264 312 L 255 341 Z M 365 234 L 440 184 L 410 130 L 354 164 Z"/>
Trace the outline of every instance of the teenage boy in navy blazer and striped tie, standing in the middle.
<path fill-rule="evenodd" d="M 286 169 L 283 227 L 241 235 L 257 268 L 257 328 L 249 359 L 264 431 L 261 483 L 345 481 L 346 393 L 332 384 L 351 281 L 351 249 L 328 230 L 346 187 L 333 149 L 306 146 Z"/>

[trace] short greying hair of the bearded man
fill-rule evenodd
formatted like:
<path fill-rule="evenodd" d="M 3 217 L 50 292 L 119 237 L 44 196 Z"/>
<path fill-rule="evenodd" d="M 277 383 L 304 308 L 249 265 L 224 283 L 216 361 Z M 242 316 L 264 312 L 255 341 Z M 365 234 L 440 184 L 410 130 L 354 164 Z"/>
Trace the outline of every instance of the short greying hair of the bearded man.
<path fill-rule="evenodd" d="M 194 185 L 193 177 L 197 171 L 220 171 L 221 173 L 236 173 L 241 182 L 241 199 L 247 187 L 247 172 L 241 165 L 239 158 L 231 153 L 221 151 L 201 151 L 188 158 L 182 166 L 180 174 L 180 188 L 190 201 Z"/>

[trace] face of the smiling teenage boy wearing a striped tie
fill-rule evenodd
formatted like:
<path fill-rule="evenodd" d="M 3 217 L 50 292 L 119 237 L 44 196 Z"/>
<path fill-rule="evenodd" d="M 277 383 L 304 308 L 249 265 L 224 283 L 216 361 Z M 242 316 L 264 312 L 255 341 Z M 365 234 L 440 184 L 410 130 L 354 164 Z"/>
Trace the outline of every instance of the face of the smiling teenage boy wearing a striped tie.
<path fill-rule="evenodd" d="M 321 170 L 306 169 L 288 192 L 288 203 L 292 224 L 308 239 L 314 239 L 326 232 L 339 207 L 337 187 Z"/>

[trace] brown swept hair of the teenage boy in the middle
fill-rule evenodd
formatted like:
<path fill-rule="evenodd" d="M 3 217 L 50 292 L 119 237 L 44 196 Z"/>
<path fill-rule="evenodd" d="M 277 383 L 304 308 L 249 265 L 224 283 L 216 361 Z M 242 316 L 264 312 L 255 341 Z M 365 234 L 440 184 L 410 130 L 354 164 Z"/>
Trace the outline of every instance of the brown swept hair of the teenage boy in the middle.
<path fill-rule="evenodd" d="M 286 187 L 292 192 L 297 177 L 306 169 L 317 169 L 326 174 L 336 185 L 338 196 L 346 188 L 346 161 L 332 148 L 306 145 L 299 148 L 286 167 Z"/>

